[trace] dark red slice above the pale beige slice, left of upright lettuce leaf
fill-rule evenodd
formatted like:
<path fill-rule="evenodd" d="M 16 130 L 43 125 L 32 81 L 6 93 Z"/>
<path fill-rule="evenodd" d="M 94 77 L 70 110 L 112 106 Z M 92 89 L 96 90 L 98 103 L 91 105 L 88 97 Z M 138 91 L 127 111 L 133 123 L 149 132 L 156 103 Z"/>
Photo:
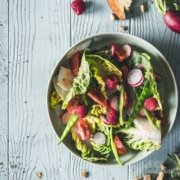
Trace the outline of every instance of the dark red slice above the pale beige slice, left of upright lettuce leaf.
<path fill-rule="evenodd" d="M 80 52 L 76 52 L 71 59 L 71 70 L 74 76 L 78 75 L 80 66 Z"/>

